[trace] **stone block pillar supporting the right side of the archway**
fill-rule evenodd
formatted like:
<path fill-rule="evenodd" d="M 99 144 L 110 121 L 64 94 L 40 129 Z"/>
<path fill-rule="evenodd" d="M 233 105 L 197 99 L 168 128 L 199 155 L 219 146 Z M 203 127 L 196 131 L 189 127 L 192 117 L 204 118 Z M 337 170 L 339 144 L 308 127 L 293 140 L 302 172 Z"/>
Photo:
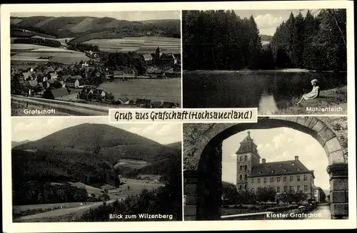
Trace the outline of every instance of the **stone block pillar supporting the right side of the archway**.
<path fill-rule="evenodd" d="M 327 167 L 330 175 L 331 219 L 348 219 L 348 164 Z"/>

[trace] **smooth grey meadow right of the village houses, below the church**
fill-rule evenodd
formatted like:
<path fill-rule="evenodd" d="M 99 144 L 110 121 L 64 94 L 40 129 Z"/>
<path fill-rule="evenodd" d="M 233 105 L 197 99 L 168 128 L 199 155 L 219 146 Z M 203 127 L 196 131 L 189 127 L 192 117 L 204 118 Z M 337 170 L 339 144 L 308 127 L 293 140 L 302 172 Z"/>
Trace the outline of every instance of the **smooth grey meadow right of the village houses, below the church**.
<path fill-rule="evenodd" d="M 111 92 L 117 100 L 119 97 L 129 99 L 141 98 L 153 101 L 180 103 L 181 80 L 169 79 L 132 79 L 128 81 L 108 82 L 99 86 L 99 89 Z"/>

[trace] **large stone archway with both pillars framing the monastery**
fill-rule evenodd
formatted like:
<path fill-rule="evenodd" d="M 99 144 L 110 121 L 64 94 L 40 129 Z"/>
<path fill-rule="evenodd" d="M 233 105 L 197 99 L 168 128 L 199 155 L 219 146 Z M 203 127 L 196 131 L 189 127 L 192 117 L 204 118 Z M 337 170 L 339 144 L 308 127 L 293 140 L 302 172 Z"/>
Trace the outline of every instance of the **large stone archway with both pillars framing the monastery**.
<path fill-rule="evenodd" d="M 258 118 L 258 123 L 185 124 L 184 132 L 188 133 L 183 138 L 184 194 L 186 195 L 186 204 L 191 207 L 196 206 L 187 212 L 188 207 L 186 207 L 186 219 L 213 220 L 221 217 L 221 147 L 223 140 L 243 130 L 279 127 L 293 128 L 307 133 L 321 144 L 328 159 L 331 218 L 347 217 L 346 137 L 333 129 L 333 123 L 324 121 L 331 118 L 266 117 Z M 190 128 L 195 130 L 190 130 Z"/>

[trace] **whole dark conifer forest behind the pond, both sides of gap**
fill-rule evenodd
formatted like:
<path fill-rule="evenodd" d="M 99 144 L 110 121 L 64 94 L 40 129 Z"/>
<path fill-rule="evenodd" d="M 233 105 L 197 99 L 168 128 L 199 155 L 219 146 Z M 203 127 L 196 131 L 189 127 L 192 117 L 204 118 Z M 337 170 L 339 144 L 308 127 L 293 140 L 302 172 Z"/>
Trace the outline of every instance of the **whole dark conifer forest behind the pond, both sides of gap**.
<path fill-rule="evenodd" d="M 253 16 L 234 11 L 183 11 L 183 69 L 306 68 L 346 71 L 346 9 L 292 13 L 268 46 Z"/>

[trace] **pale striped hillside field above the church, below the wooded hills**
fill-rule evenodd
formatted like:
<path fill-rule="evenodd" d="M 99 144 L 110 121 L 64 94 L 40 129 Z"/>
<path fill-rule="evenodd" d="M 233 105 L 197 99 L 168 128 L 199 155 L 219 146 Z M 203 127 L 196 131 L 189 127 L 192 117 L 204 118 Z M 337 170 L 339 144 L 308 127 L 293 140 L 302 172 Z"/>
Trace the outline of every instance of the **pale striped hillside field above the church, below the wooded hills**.
<path fill-rule="evenodd" d="M 138 53 L 154 53 L 160 46 L 162 53 L 181 53 L 181 39 L 159 36 L 124 37 L 109 39 L 94 39 L 86 41 L 96 45 L 102 51 L 136 51 Z"/>

